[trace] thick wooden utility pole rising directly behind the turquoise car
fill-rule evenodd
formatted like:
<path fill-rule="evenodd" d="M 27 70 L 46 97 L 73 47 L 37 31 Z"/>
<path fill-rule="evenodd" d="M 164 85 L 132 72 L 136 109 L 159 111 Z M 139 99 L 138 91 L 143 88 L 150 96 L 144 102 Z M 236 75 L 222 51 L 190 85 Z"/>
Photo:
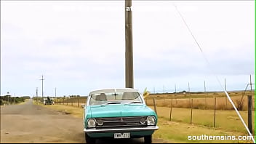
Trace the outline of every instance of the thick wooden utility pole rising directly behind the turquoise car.
<path fill-rule="evenodd" d="M 125 87 L 133 88 L 132 0 L 125 0 Z"/>

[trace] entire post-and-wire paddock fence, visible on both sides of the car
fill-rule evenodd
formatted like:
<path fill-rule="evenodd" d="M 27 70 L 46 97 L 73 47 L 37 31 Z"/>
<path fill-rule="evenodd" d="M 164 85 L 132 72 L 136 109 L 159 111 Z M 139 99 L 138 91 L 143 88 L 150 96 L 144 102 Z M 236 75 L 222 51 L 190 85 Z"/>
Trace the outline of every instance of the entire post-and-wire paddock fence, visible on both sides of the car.
<path fill-rule="evenodd" d="M 231 92 L 230 95 L 234 102 L 241 100 L 241 92 Z M 248 98 L 244 97 L 240 111 L 246 121 L 247 101 Z M 87 103 L 87 97 L 56 97 L 54 102 L 56 105 L 82 108 L 82 105 Z M 246 133 L 236 112 L 232 111 L 231 103 L 227 102 L 221 93 L 151 94 L 145 97 L 145 103 L 162 119 Z M 255 109 L 254 104 L 255 97 L 252 97 L 252 110 Z M 238 106 L 237 103 L 236 105 Z M 255 116 L 252 118 L 254 121 Z M 254 124 L 252 125 L 254 127 Z"/>

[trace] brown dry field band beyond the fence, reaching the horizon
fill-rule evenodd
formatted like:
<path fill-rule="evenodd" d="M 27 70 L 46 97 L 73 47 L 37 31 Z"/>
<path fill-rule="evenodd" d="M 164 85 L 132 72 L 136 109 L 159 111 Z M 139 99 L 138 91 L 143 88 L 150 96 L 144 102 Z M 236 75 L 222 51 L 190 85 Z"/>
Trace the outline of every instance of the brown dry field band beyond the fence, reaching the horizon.
<path fill-rule="evenodd" d="M 233 103 L 237 106 L 238 101 L 241 101 L 241 97 L 244 92 L 228 92 L 233 100 Z M 242 102 L 244 103 L 243 111 L 247 111 L 247 95 L 251 95 L 250 92 L 245 92 Z M 255 92 L 252 92 L 255 95 Z M 204 93 L 191 93 L 189 94 L 153 94 L 146 97 L 145 101 L 147 105 L 153 105 L 153 98 L 156 100 L 156 105 L 161 107 L 173 108 L 191 108 L 191 99 L 193 99 L 193 108 L 195 109 L 214 109 L 216 97 L 216 109 L 217 110 L 233 110 L 233 106 L 225 96 L 224 92 L 211 92 Z M 253 109 L 255 97 L 252 97 Z"/>

